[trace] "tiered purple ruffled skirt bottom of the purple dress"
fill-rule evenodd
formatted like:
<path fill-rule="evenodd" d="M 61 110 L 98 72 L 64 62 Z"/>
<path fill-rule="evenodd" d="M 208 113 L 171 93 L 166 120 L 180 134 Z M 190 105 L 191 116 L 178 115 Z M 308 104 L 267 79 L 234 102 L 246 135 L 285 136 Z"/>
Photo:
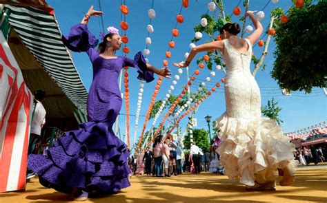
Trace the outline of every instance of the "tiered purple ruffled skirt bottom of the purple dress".
<path fill-rule="evenodd" d="M 30 155 L 28 167 L 39 175 L 43 186 L 71 193 L 115 193 L 130 186 L 127 146 L 106 122 L 86 122 L 54 142 L 45 155 Z"/>

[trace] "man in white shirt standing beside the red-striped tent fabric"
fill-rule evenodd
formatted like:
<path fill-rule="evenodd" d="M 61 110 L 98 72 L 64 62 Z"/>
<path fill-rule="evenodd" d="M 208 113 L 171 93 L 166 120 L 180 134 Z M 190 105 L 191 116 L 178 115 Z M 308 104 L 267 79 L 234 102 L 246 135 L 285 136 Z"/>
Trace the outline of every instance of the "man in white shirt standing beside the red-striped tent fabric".
<path fill-rule="evenodd" d="M 32 125 L 30 127 L 30 141 L 28 145 L 28 155 L 34 153 L 35 146 L 41 138 L 41 129 L 46 124 L 46 109 L 41 100 L 46 96 L 46 92 L 41 89 L 34 92 L 34 106 L 32 109 Z M 32 178 L 34 173 L 28 171 L 28 178 Z"/>

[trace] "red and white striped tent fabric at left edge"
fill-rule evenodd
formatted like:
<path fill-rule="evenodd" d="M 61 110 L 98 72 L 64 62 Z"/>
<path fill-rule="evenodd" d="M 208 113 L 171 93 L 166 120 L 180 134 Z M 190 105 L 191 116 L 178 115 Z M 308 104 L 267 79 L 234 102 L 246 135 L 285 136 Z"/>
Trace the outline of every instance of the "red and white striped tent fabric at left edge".
<path fill-rule="evenodd" d="M 26 187 L 32 94 L 0 31 L 0 192 Z"/>

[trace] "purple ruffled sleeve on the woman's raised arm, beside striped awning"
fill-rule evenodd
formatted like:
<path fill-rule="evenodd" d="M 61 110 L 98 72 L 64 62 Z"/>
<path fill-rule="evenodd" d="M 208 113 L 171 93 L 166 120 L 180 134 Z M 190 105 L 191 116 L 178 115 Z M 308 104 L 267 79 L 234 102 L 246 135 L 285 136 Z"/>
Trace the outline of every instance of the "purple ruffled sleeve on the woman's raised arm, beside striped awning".
<path fill-rule="evenodd" d="M 61 36 L 61 39 L 73 52 L 86 52 L 99 43 L 99 40 L 88 30 L 88 26 L 82 23 L 72 26 L 69 35 Z"/>

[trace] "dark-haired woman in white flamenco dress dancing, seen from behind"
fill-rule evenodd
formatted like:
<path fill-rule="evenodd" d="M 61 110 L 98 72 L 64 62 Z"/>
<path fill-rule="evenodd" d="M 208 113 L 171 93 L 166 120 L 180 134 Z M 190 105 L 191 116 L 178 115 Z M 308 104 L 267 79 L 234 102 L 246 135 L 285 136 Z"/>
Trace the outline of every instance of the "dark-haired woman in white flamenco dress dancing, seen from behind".
<path fill-rule="evenodd" d="M 174 63 L 188 67 L 198 52 L 219 50 L 227 67 L 225 78 L 226 112 L 217 119 L 223 133 L 217 149 L 228 178 L 250 190 L 275 190 L 277 169 L 283 169 L 281 186 L 295 182 L 297 161 L 293 144 L 284 136 L 274 120 L 261 118 L 261 96 L 255 78 L 250 73 L 252 45 L 263 32 L 252 11 L 246 12 L 256 30 L 247 39 L 237 37 L 237 23 L 226 23 L 221 29 L 222 41 L 199 45 L 192 49 L 186 61 Z"/>

